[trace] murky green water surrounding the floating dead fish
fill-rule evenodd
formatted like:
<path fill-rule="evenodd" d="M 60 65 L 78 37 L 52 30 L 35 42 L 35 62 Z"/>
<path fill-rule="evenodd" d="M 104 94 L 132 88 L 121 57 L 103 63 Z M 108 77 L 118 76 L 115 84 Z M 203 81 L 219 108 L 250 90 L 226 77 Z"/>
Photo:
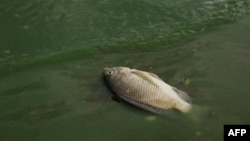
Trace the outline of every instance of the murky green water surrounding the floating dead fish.
<path fill-rule="evenodd" d="M 220 141 L 224 124 L 250 123 L 248 0 L 2 0 L 0 9 L 1 141 Z M 209 114 L 150 121 L 111 99 L 106 66 L 156 73 Z"/>

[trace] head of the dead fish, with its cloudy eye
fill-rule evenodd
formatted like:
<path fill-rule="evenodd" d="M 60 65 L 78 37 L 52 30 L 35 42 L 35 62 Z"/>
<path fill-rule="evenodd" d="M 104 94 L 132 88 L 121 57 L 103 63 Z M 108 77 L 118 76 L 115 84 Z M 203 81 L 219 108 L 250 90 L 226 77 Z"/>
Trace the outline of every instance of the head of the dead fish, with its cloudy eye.
<path fill-rule="evenodd" d="M 123 74 L 128 73 L 130 68 L 128 67 L 112 67 L 104 68 L 102 71 L 102 77 L 107 83 L 114 83 L 119 80 Z"/>

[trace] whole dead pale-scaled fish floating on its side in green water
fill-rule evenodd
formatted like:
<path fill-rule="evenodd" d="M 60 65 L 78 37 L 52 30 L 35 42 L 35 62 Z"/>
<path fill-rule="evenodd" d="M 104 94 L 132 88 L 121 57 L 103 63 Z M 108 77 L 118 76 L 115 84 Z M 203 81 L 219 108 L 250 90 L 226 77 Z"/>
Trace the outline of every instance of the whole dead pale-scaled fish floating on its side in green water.
<path fill-rule="evenodd" d="M 153 113 L 176 109 L 187 113 L 190 97 L 157 75 L 128 67 L 104 68 L 104 81 L 124 101 Z"/>

